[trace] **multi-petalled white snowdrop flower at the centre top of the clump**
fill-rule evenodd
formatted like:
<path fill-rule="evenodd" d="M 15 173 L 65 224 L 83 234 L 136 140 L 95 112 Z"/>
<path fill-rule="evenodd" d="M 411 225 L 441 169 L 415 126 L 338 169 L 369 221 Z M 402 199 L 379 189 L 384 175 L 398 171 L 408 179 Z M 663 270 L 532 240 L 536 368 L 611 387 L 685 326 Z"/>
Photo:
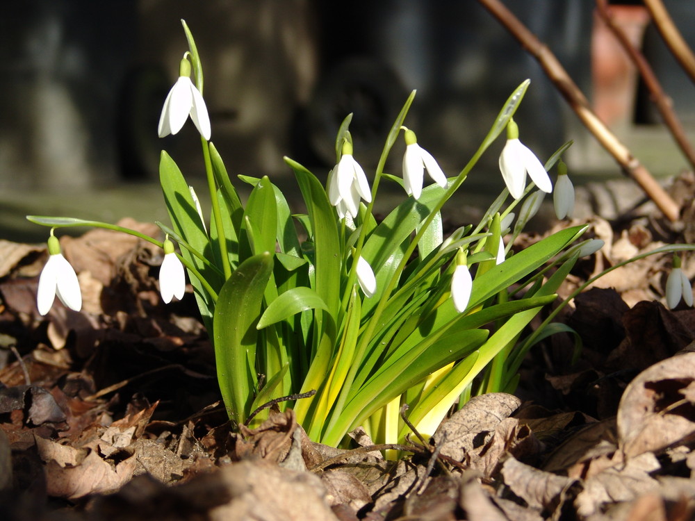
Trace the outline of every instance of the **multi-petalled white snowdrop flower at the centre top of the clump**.
<path fill-rule="evenodd" d="M 352 157 L 352 144 L 343 143 L 343 154 L 338 164 L 328 174 L 328 199 L 336 207 L 338 216 L 343 219 L 349 212 L 357 217 L 359 200 L 368 203 L 372 201 L 367 176 L 364 170 Z"/>

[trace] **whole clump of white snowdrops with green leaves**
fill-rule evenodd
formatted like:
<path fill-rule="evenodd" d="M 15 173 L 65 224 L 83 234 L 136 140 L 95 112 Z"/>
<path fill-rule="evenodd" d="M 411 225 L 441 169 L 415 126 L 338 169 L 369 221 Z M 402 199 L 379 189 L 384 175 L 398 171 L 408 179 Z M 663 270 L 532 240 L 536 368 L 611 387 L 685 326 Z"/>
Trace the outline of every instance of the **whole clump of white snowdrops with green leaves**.
<path fill-rule="evenodd" d="M 363 426 L 376 442 L 396 443 L 411 428 L 400 416 L 403 404 L 409 422 L 427 436 L 472 395 L 513 392 L 525 352 L 545 334 L 537 329 L 523 337 L 528 324 L 555 301 L 575 261 L 602 245 L 580 241 L 587 226 L 569 226 L 512 254 L 512 242 L 543 196 L 553 192 L 548 172 L 555 165 L 558 217 L 571 216 L 574 203 L 561 160 L 569 144 L 543 165 L 519 140 L 513 116 L 529 82 L 512 92 L 471 160 L 454 175 L 445 174 L 405 126 L 415 92 L 385 136 L 369 176 L 353 147 L 347 115 L 326 186 L 285 158 L 306 207 L 306 213 L 294 214 L 267 176 L 238 176 L 252 186 L 242 204 L 211 141 L 202 64 L 185 22 L 183 28 L 188 51 L 165 99 L 158 133 L 175 134 L 190 117 L 201 138 L 210 210 L 202 210 L 174 158 L 162 151 L 160 180 L 171 219 L 157 223 L 163 241 L 108 223 L 28 216 L 51 226 L 49 261 L 38 287 L 40 313 L 49 311 L 56 295 L 66 306 L 81 308 L 79 282 L 60 254 L 54 229 L 97 226 L 163 248 L 159 284 L 165 302 L 183 297 L 188 272 L 215 349 L 222 398 L 237 424 L 261 421 L 263 413 L 252 417 L 254 411 L 276 401 L 294 409 L 313 440 L 338 445 Z M 499 163 L 507 188 L 480 223 L 443 237 L 445 203 L 504 131 Z M 401 176 L 384 172 L 398 139 L 406 145 Z M 425 172 L 433 181 L 427 185 Z M 378 222 L 373 206 L 381 183 L 402 185 L 404 197 Z M 673 274 L 669 304 L 680 295 L 692 303 L 679 265 Z"/>

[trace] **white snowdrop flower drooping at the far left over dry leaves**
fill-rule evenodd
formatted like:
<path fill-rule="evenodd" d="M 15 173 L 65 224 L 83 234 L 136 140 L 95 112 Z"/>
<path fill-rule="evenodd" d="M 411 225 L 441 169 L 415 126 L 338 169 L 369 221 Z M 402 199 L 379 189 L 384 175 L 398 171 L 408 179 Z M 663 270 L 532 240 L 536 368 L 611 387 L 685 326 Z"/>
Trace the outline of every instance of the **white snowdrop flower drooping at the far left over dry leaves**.
<path fill-rule="evenodd" d="M 39 276 L 39 287 L 36 294 L 36 304 L 41 315 L 45 315 L 53 306 L 58 295 L 65 306 L 73 311 L 82 309 L 82 293 L 77 274 L 63 254 L 60 253 L 60 242 L 52 231 L 48 239 L 49 258 Z"/>

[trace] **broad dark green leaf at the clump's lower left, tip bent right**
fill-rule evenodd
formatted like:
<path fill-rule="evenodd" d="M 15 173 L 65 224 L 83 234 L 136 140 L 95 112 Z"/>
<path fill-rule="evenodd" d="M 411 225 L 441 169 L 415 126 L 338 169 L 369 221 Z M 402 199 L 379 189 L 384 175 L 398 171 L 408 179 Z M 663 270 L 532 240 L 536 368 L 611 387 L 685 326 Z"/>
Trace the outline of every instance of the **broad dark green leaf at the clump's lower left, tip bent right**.
<path fill-rule="evenodd" d="M 271 273 L 272 254 L 247 258 L 222 286 L 215 307 L 213 345 L 218 382 L 229 417 L 237 423 L 243 423 L 251 412 L 256 379 L 256 323 Z"/>

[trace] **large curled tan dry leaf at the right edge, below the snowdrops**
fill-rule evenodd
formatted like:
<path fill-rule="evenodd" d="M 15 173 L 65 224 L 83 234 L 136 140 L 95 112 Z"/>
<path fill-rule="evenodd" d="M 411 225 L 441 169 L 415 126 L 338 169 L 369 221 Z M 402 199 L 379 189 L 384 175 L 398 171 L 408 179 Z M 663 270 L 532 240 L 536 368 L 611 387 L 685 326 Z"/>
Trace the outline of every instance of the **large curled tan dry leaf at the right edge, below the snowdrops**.
<path fill-rule="evenodd" d="M 657 452 L 695 436 L 695 352 L 667 358 L 630 382 L 617 415 L 619 446 L 626 458 Z"/>

